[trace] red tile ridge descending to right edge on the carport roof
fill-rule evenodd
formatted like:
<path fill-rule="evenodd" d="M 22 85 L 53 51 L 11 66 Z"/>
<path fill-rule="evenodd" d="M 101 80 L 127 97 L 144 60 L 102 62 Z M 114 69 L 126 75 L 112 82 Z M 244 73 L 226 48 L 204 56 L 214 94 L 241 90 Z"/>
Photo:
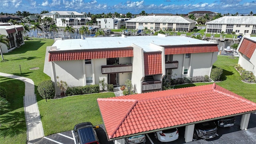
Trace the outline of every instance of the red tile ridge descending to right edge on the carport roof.
<path fill-rule="evenodd" d="M 250 100 L 247 100 L 246 98 L 243 98 L 242 96 L 239 96 L 238 94 L 235 94 L 235 93 L 233 93 L 233 92 L 231 92 L 229 90 L 226 90 L 226 89 L 216 85 L 215 83 L 212 85 L 212 89 L 213 89 L 214 92 L 218 92 L 220 94 L 224 94 L 226 96 L 230 96 L 232 98 L 235 98 L 237 100 L 241 100 L 243 102 L 247 102 L 248 104 L 252 104 L 253 106 L 256 105 L 256 103 L 251 102 Z"/>

